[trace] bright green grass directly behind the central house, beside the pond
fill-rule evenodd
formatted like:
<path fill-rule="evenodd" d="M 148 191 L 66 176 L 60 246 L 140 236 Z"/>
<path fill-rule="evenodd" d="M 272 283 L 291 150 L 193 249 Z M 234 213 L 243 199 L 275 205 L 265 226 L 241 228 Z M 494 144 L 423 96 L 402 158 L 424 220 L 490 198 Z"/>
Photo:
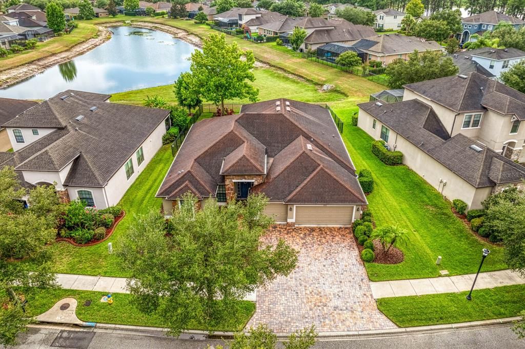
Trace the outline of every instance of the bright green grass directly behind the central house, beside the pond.
<path fill-rule="evenodd" d="M 257 68 L 254 70 L 253 85 L 259 89 L 259 100 L 267 101 L 286 97 L 303 102 L 333 102 L 344 100 L 339 92 L 320 93 L 311 83 L 290 78 L 272 68 Z M 149 89 L 114 93 L 111 102 L 142 105 L 147 96 L 159 95 L 166 101 L 176 103 L 173 85 L 157 86 Z M 248 100 L 231 100 L 227 103 L 250 103 Z"/>

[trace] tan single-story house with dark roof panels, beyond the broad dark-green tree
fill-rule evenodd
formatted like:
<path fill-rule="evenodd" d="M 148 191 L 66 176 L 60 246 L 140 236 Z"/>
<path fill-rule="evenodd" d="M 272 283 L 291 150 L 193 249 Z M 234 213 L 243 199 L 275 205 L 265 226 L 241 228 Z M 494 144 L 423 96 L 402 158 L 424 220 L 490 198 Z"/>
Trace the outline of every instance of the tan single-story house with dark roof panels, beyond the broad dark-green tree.
<path fill-rule="evenodd" d="M 387 66 L 393 60 L 402 58 L 408 60 L 408 54 L 418 51 L 444 51 L 443 46 L 435 41 L 423 41 L 414 36 L 398 34 L 375 35 L 361 39 L 352 44 L 366 54 L 365 60 L 375 60 Z"/>

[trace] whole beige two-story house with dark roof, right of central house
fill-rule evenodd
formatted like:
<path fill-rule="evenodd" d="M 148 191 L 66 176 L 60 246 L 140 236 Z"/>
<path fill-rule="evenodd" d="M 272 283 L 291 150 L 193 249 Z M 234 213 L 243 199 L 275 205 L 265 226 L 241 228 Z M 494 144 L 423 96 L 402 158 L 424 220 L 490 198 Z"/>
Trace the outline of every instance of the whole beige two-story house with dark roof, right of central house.
<path fill-rule="evenodd" d="M 358 126 L 402 151 L 405 165 L 470 209 L 492 192 L 521 186 L 525 167 L 512 160 L 525 140 L 524 94 L 478 73 L 404 88 L 402 102 L 359 104 Z"/>

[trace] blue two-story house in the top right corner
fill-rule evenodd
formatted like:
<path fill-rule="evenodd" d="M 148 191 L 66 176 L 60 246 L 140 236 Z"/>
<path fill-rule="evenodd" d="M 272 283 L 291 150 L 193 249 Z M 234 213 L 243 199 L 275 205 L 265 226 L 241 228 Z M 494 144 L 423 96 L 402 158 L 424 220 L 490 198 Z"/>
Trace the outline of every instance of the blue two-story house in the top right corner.
<path fill-rule="evenodd" d="M 492 31 L 500 22 L 508 22 L 515 29 L 519 29 L 525 25 L 525 20 L 512 17 L 496 11 L 487 11 L 477 15 L 472 15 L 463 18 L 461 21 L 461 33 L 459 36 L 459 43 L 463 44 L 470 41 L 472 34 L 483 35 L 486 31 Z"/>

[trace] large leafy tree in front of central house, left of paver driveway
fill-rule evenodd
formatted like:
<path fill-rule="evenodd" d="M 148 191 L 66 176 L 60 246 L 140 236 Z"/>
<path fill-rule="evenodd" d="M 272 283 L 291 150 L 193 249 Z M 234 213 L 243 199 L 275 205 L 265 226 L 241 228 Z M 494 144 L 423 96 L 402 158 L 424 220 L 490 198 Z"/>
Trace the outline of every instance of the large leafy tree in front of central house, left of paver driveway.
<path fill-rule="evenodd" d="M 186 194 L 167 228 L 158 211 L 139 216 L 119 253 L 139 309 L 160 315 L 172 334 L 194 321 L 213 327 L 235 318 L 247 293 L 288 275 L 296 250 L 259 240 L 272 223 L 263 213 L 267 202 L 250 195 L 244 203 L 212 200 L 197 210 Z"/>

